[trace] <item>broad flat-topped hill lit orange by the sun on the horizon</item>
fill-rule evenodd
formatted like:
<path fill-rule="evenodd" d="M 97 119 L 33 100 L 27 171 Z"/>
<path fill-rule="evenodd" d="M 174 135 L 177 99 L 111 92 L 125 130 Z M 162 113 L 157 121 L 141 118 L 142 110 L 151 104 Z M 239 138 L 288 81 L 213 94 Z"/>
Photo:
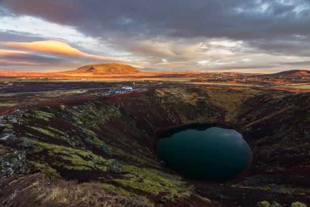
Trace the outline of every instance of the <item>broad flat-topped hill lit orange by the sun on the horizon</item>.
<path fill-rule="evenodd" d="M 133 74 L 141 73 L 135 67 L 119 63 L 99 63 L 90 64 L 80 67 L 74 71 L 65 71 L 65 74 L 93 74 L 93 75 L 110 75 L 110 74 Z"/>

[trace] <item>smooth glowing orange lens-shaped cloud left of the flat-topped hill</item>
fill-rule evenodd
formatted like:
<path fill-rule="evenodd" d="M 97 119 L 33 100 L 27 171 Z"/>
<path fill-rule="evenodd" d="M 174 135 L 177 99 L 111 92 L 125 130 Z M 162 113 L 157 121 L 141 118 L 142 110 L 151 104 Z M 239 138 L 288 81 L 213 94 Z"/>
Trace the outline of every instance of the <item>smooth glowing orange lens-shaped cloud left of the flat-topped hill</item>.
<path fill-rule="evenodd" d="M 108 58 L 101 57 L 98 55 L 90 55 L 84 52 L 81 52 L 78 49 L 71 47 L 70 45 L 49 40 L 49 41 L 37 41 L 37 42 L 0 42 L 0 46 L 5 46 L 11 49 L 18 49 L 27 52 L 37 52 L 37 53 L 45 53 L 50 55 L 56 55 L 61 57 L 84 57 L 112 62 L 130 62 L 129 60 L 118 59 L 118 58 Z"/>

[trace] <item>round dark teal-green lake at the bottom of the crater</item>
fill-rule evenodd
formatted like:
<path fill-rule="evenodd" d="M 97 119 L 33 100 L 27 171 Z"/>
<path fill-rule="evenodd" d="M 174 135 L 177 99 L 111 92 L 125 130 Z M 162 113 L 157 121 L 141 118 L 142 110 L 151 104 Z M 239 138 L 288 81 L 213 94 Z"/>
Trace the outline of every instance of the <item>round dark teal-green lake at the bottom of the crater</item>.
<path fill-rule="evenodd" d="M 169 168 L 210 181 L 232 179 L 252 161 L 252 151 L 242 135 L 216 125 L 173 129 L 158 141 L 156 149 Z"/>

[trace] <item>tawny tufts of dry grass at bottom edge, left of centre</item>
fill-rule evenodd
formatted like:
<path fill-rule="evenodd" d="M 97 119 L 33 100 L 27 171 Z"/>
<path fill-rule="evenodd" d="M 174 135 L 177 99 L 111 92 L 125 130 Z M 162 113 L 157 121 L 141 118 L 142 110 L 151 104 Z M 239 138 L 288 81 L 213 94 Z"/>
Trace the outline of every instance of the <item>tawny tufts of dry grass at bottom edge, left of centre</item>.
<path fill-rule="evenodd" d="M 78 184 L 77 181 L 60 180 L 55 184 L 47 181 L 36 188 L 35 197 L 43 206 L 153 206 L 142 198 L 125 197 L 119 194 L 107 193 L 100 183 Z"/>

